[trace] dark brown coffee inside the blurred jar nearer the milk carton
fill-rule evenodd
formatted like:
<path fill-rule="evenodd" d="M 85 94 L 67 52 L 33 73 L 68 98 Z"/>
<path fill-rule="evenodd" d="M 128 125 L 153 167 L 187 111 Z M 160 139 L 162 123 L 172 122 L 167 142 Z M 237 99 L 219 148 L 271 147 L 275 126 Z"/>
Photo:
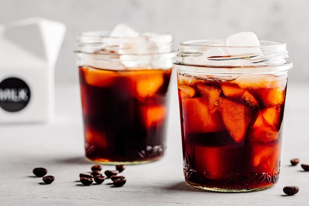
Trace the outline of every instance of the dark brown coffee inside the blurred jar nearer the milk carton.
<path fill-rule="evenodd" d="M 170 73 L 79 68 L 87 158 L 115 163 L 163 156 Z"/>

